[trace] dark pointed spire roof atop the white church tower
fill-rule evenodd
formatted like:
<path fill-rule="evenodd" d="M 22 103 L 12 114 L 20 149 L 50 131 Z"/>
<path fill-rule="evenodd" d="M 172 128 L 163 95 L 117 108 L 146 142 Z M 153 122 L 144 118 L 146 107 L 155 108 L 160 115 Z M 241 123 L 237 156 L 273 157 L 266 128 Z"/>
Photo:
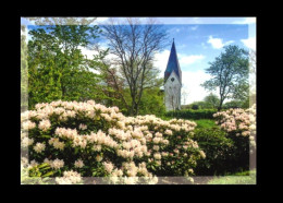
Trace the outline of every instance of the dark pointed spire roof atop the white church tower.
<path fill-rule="evenodd" d="M 173 71 L 175 71 L 176 75 L 179 76 L 180 82 L 182 83 L 182 71 L 180 69 L 180 64 L 179 64 L 179 60 L 177 60 L 174 39 L 173 39 L 173 44 L 171 47 L 171 52 L 170 52 L 170 57 L 168 60 L 167 70 L 164 72 L 164 82 L 167 82 L 168 77 L 170 76 L 170 74 Z"/>

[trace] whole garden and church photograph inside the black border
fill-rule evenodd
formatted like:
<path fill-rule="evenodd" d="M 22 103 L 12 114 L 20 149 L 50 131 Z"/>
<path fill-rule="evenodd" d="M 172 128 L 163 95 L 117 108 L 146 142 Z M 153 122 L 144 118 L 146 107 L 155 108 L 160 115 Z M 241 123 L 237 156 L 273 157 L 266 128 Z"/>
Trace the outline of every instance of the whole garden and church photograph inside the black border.
<path fill-rule="evenodd" d="M 21 184 L 257 184 L 256 16 L 20 31 Z"/>

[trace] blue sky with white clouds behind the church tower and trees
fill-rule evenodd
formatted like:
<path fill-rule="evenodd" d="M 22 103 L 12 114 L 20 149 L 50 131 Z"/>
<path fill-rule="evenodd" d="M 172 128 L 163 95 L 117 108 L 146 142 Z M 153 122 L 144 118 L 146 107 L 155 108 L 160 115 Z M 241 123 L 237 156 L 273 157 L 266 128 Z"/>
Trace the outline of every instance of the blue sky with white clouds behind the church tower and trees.
<path fill-rule="evenodd" d="M 123 20 L 123 17 L 119 17 Z M 145 17 L 139 17 L 142 23 Z M 170 44 L 173 38 L 183 74 L 182 104 L 202 100 L 209 92 L 200 84 L 210 79 L 205 72 L 225 45 L 238 45 L 245 49 L 256 49 L 256 17 L 156 17 L 168 33 Z M 104 24 L 108 17 L 98 17 L 94 24 Z M 33 23 L 22 19 L 22 24 Z M 29 38 L 29 37 L 28 37 Z M 101 41 L 102 46 L 106 43 Z M 171 45 L 156 53 L 155 65 L 163 76 Z M 89 58 L 94 51 L 82 48 Z M 111 59 L 111 56 L 110 56 Z"/>

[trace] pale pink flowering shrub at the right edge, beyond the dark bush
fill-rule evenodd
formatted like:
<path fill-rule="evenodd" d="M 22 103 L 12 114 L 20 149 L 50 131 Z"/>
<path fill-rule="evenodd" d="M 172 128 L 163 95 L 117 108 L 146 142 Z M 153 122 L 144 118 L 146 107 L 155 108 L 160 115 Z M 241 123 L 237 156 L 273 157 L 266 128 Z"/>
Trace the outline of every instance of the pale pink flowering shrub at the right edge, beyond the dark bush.
<path fill-rule="evenodd" d="M 256 150 L 256 105 L 249 109 L 229 109 L 213 115 L 217 124 L 234 141 L 234 156 L 238 163 L 248 165 L 249 153 Z"/>

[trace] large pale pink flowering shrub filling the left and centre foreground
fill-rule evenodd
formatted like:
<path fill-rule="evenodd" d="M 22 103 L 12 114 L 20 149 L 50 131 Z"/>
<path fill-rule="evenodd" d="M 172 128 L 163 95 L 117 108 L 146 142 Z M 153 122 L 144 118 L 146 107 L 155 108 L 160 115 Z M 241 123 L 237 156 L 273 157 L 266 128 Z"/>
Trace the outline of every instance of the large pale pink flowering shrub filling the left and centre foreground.
<path fill-rule="evenodd" d="M 113 177 L 118 183 L 146 177 L 156 183 L 156 176 L 193 175 L 197 159 L 205 157 L 189 139 L 195 122 L 124 117 L 118 107 L 94 100 L 37 104 L 21 121 L 29 175 L 40 176 L 36 168 L 44 166 L 57 183 L 81 183 L 83 177 Z"/>

